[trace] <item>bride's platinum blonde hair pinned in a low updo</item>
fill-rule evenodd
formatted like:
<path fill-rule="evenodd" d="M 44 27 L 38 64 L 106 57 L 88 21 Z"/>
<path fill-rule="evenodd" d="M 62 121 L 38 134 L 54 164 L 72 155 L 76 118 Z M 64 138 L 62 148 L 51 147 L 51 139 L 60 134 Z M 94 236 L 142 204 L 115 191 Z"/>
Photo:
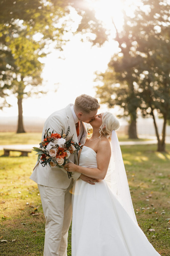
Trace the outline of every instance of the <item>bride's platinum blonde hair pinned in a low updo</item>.
<path fill-rule="evenodd" d="M 118 119 L 110 112 L 104 112 L 102 116 L 102 124 L 100 126 L 100 134 L 104 135 L 109 141 L 111 140 L 112 131 L 119 129 L 120 123 Z"/>

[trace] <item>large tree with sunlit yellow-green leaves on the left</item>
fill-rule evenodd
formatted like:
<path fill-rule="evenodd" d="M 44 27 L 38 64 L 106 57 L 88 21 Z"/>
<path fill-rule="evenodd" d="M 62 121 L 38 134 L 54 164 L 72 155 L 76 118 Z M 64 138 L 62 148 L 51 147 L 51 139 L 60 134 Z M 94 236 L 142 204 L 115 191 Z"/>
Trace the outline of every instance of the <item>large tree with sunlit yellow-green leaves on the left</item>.
<path fill-rule="evenodd" d="M 18 98 L 18 133 L 25 132 L 22 99 L 42 83 L 40 58 L 48 53 L 45 46 L 55 41 L 56 48 L 62 50 L 63 35 L 69 30 L 68 19 L 64 17 L 69 15 L 70 8 L 75 8 L 82 17 L 77 31 L 85 33 L 88 29 L 96 34 L 95 39 L 90 39 L 93 44 L 103 44 L 107 39 L 105 29 L 84 0 L 4 0 L 0 3 L 0 103 L 1 109 L 9 106 L 6 97 L 11 93 Z M 37 33 L 39 37 L 35 37 Z"/>

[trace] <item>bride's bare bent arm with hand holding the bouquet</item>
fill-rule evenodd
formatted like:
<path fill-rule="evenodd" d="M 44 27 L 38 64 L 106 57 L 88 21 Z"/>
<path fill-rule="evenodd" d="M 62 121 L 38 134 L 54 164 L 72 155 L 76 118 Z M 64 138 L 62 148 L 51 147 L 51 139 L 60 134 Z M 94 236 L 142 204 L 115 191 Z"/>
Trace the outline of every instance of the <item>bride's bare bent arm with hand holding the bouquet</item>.
<path fill-rule="evenodd" d="M 82 173 L 95 179 L 104 179 L 106 176 L 111 157 L 111 147 L 109 141 L 101 141 L 97 148 L 97 168 L 86 168 L 72 163 L 66 164 L 64 167 L 69 172 Z"/>

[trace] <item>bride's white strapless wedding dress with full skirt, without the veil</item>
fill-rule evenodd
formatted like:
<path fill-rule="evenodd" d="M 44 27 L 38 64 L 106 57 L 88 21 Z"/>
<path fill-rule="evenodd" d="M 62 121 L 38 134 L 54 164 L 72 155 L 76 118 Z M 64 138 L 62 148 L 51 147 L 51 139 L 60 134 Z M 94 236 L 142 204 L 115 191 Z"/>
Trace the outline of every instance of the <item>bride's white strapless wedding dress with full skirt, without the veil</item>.
<path fill-rule="evenodd" d="M 83 146 L 79 165 L 97 168 L 96 152 Z M 105 180 L 73 186 L 72 256 L 160 256 Z"/>

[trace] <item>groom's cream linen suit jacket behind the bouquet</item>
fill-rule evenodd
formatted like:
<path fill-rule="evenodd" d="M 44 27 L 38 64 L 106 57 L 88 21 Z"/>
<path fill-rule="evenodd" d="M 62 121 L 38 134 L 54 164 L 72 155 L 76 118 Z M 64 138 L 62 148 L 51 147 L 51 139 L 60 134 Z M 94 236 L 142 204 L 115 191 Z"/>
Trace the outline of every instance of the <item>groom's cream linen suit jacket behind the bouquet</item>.
<path fill-rule="evenodd" d="M 70 135 L 73 135 L 73 140 L 78 143 L 75 122 L 70 108 L 71 105 L 73 104 L 69 104 L 66 108 L 52 113 L 47 118 L 43 128 L 42 141 L 44 139 L 45 130 L 50 128 L 49 132 L 54 130 L 54 133 L 61 134 L 62 130 L 66 132 L 68 126 L 70 126 Z M 81 145 L 84 145 L 87 139 L 87 129 L 83 122 L 82 124 L 84 126 L 84 132 L 80 139 L 80 143 Z M 69 159 L 77 164 L 77 156 L 74 154 L 71 154 Z M 80 175 L 80 173 L 72 173 L 72 178 L 77 179 Z M 49 165 L 43 167 L 38 161 L 33 169 L 30 179 L 34 180 L 37 184 L 54 188 L 67 188 L 72 180 L 71 178 L 69 179 L 66 170 L 58 167 L 51 168 Z"/>

